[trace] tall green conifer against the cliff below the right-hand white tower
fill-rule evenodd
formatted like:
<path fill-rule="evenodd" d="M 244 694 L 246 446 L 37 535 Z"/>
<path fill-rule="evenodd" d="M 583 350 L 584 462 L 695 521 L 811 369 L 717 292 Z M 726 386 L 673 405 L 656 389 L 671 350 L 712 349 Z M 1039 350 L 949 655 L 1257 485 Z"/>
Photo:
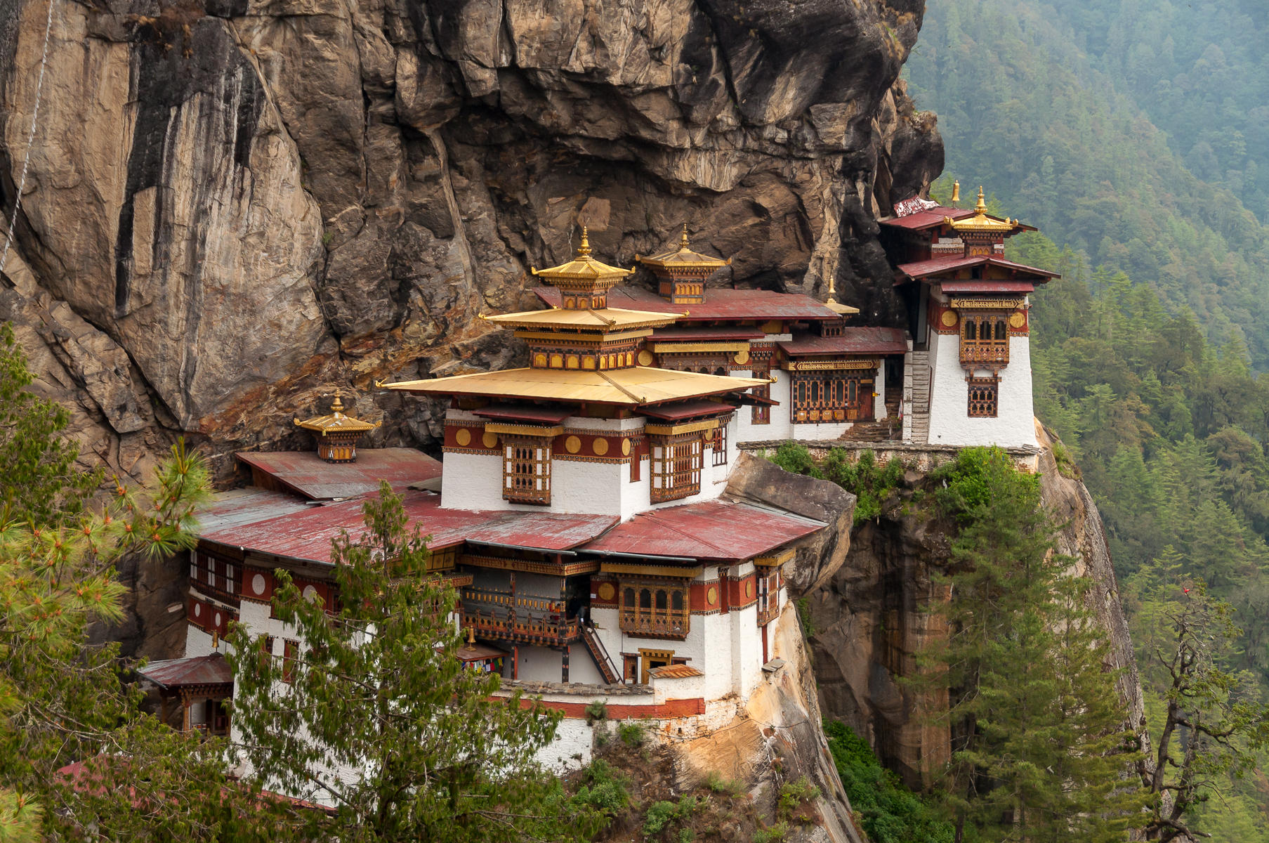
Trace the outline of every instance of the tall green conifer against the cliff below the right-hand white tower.
<path fill-rule="evenodd" d="M 966 448 L 934 477 L 957 524 L 949 636 L 921 654 L 919 682 L 950 688 L 945 811 L 985 840 L 1124 839 L 1147 801 L 1122 781 L 1134 736 L 1038 479 L 999 448 Z"/>

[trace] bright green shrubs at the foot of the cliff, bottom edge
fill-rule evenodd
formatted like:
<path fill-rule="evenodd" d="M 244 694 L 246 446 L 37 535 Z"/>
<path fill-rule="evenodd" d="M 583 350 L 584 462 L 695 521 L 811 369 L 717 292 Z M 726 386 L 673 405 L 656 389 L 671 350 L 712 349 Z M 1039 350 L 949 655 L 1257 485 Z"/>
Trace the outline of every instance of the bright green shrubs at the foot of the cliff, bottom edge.
<path fill-rule="evenodd" d="M 840 721 L 825 721 L 829 750 L 850 807 L 873 843 L 952 843 L 956 829 L 877 760 L 867 741 Z"/>

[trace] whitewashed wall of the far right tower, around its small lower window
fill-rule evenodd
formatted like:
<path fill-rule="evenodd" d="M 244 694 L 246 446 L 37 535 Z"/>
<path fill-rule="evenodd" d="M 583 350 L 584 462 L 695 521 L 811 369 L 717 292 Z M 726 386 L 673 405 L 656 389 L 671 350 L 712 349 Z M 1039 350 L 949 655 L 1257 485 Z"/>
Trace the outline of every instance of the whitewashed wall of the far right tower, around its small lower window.
<path fill-rule="evenodd" d="M 1030 339 L 1009 339 L 1009 364 L 1000 369 L 996 418 L 970 418 L 970 385 L 961 366 L 961 338 L 930 335 L 930 444 L 1010 448 L 1036 444 L 1032 404 Z M 978 375 L 990 375 L 980 369 Z"/>

